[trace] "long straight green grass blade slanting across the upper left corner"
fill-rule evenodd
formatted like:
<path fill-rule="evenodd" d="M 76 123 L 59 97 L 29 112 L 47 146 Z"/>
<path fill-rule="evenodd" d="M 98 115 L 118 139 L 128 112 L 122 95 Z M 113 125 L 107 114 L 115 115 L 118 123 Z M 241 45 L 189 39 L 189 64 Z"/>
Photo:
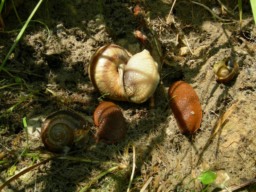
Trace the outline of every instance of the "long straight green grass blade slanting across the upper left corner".
<path fill-rule="evenodd" d="M 2 2 L 3 2 L 3 0 L 2 0 Z M 0 9 L 1 9 L 2 2 L 1 2 L 1 4 L 0 4 Z M 1 67 L 0 67 L 0 72 L 2 71 L 2 68 L 4 67 L 4 64 L 6 63 L 6 61 L 7 61 L 8 58 L 9 58 L 9 56 L 11 55 L 12 50 L 14 49 L 14 47 L 16 46 L 16 44 L 19 42 L 20 37 L 23 35 L 25 29 L 27 28 L 29 21 L 32 19 L 32 17 L 34 16 L 36 10 L 38 9 L 38 7 L 40 6 L 40 4 L 41 4 L 42 2 L 43 2 L 43 0 L 40 0 L 40 1 L 37 3 L 36 7 L 34 8 L 34 10 L 32 11 L 32 13 L 31 13 L 30 16 L 28 17 L 28 20 L 26 21 L 25 25 L 24 25 L 23 28 L 20 30 L 20 33 L 19 33 L 19 35 L 16 37 L 14 43 L 12 44 L 11 49 L 10 49 L 9 52 L 7 53 L 6 57 L 4 58 L 4 61 L 3 61 L 2 65 L 1 65 Z"/>

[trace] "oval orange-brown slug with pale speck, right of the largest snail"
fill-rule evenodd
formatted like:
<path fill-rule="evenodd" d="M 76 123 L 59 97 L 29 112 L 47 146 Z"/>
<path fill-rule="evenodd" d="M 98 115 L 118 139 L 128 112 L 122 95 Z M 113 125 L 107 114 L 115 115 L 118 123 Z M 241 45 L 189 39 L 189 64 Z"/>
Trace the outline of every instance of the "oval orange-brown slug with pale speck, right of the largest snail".
<path fill-rule="evenodd" d="M 202 109 L 193 87 L 184 81 L 177 81 L 169 87 L 170 106 L 180 131 L 194 134 L 202 121 Z"/>

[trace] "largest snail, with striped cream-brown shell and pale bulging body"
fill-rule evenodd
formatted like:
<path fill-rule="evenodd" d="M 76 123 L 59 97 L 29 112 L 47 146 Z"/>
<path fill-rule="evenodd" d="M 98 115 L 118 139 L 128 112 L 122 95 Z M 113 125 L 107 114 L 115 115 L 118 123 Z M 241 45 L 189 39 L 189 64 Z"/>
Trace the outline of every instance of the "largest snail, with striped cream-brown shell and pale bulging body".
<path fill-rule="evenodd" d="M 147 50 L 129 58 L 124 48 L 105 45 L 89 63 L 89 77 L 95 89 L 112 100 L 143 103 L 159 83 L 157 63 Z"/>

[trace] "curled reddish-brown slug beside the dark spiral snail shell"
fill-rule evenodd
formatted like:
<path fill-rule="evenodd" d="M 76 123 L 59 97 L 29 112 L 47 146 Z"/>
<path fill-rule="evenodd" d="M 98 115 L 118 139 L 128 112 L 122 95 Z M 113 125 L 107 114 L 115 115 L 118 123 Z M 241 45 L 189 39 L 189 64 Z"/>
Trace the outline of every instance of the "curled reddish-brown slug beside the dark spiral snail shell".
<path fill-rule="evenodd" d="M 99 126 L 95 135 L 93 135 L 96 142 L 116 143 L 124 137 L 124 116 L 116 104 L 101 101 L 93 113 L 93 119 L 95 125 Z"/>

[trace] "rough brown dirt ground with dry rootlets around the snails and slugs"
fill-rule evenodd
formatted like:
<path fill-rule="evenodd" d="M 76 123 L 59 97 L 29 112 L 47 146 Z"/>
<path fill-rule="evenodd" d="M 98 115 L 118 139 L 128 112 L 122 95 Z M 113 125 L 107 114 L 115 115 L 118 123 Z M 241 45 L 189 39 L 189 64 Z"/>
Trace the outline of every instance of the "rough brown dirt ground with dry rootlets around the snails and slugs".
<path fill-rule="evenodd" d="M 256 30 L 250 2 L 243 1 L 241 29 L 237 1 L 222 1 L 230 12 L 222 12 L 218 1 L 197 2 L 229 21 L 215 19 L 188 0 L 177 1 L 170 15 L 171 0 L 105 0 L 101 17 L 99 1 L 43 2 L 33 20 L 49 28 L 49 38 L 44 25 L 31 22 L 4 66 L 9 73 L 0 72 L 0 115 L 28 96 L 0 119 L 0 161 L 6 161 L 0 164 L 0 184 L 49 157 L 38 133 L 49 114 L 75 111 L 89 122 L 91 131 L 71 149 L 82 150 L 34 168 L 3 191 L 79 191 L 116 164 L 125 168 L 97 179 L 88 191 L 126 191 L 133 166 L 131 147 L 126 154 L 130 142 L 136 151 L 132 191 L 202 191 L 206 185 L 200 180 L 188 182 L 207 170 L 218 175 L 207 191 L 255 179 Z M 5 31 L 21 28 L 9 3 L 2 12 Z M 20 20 L 26 21 L 37 1 L 15 3 Z M 136 30 L 148 38 L 146 43 L 140 42 Z M 17 34 L 0 34 L 1 63 Z M 155 107 L 149 107 L 148 101 L 135 104 L 100 98 L 90 82 L 88 65 L 92 54 L 107 44 L 120 45 L 131 54 L 148 49 L 162 65 Z M 188 46 L 193 55 L 180 53 Z M 213 65 L 228 56 L 235 58 L 239 71 L 231 82 L 219 84 Z M 17 77 L 22 86 L 15 84 Z M 193 136 L 180 132 L 167 104 L 168 88 L 179 80 L 190 84 L 200 99 L 203 118 Z M 126 134 L 118 143 L 94 142 L 97 127 L 92 113 L 100 100 L 116 103 L 124 114 Z M 23 117 L 28 118 L 30 145 L 21 155 L 27 146 Z M 238 191 L 256 191 L 255 182 L 251 183 Z"/>

